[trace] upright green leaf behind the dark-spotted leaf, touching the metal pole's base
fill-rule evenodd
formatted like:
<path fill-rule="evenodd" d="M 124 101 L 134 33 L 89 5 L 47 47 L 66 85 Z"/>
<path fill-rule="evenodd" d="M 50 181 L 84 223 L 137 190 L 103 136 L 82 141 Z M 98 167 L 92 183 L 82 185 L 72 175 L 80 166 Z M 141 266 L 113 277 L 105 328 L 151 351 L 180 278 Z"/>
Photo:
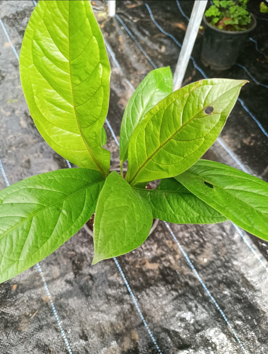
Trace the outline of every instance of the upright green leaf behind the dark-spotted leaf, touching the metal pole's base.
<path fill-rule="evenodd" d="M 172 73 L 169 67 L 151 71 L 140 83 L 125 109 L 121 130 L 119 158 L 128 158 L 128 144 L 135 127 L 152 107 L 167 97 L 173 89 Z"/>

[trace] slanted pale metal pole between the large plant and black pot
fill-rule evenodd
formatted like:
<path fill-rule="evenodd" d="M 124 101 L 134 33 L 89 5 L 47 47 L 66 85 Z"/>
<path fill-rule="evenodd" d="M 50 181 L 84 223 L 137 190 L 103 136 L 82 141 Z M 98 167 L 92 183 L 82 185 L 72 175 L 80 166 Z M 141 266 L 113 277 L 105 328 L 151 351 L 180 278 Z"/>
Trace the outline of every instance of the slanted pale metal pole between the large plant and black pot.
<path fill-rule="evenodd" d="M 177 61 L 173 77 L 173 91 L 176 91 L 181 87 L 207 2 L 207 0 L 194 1 L 190 21 L 183 39 L 179 59 Z"/>

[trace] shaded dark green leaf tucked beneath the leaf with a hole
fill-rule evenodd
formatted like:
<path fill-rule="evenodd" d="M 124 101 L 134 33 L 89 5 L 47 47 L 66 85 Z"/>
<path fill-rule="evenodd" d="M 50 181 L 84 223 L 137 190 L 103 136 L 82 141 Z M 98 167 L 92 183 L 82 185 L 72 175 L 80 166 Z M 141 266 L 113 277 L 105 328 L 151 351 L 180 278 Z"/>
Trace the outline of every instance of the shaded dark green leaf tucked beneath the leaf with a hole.
<path fill-rule="evenodd" d="M 214 224 L 227 220 L 174 178 L 161 179 L 156 189 L 136 186 L 133 189 L 148 201 L 153 218 L 176 224 Z"/>

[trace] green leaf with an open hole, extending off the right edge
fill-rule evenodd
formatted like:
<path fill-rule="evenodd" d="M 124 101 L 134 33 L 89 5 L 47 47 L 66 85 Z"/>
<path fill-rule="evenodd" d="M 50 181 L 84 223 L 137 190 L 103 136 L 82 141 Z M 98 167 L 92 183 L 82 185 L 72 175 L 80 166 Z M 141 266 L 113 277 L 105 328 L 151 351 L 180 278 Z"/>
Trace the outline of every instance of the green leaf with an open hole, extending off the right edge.
<path fill-rule="evenodd" d="M 175 178 L 236 225 L 268 240 L 268 183 L 208 160 L 199 160 Z"/>

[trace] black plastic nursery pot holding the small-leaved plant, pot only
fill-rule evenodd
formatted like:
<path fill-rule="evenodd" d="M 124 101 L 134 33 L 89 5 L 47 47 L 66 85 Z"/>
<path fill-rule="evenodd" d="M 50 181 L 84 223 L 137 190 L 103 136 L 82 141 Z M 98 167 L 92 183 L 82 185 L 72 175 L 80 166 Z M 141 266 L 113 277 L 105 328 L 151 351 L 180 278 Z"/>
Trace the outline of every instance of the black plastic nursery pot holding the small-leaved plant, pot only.
<path fill-rule="evenodd" d="M 235 64 L 240 49 L 251 31 L 256 27 L 257 21 L 251 15 L 250 28 L 244 31 L 225 31 L 213 27 L 203 17 L 205 33 L 203 36 L 201 61 L 206 67 L 213 70 L 226 70 Z"/>

